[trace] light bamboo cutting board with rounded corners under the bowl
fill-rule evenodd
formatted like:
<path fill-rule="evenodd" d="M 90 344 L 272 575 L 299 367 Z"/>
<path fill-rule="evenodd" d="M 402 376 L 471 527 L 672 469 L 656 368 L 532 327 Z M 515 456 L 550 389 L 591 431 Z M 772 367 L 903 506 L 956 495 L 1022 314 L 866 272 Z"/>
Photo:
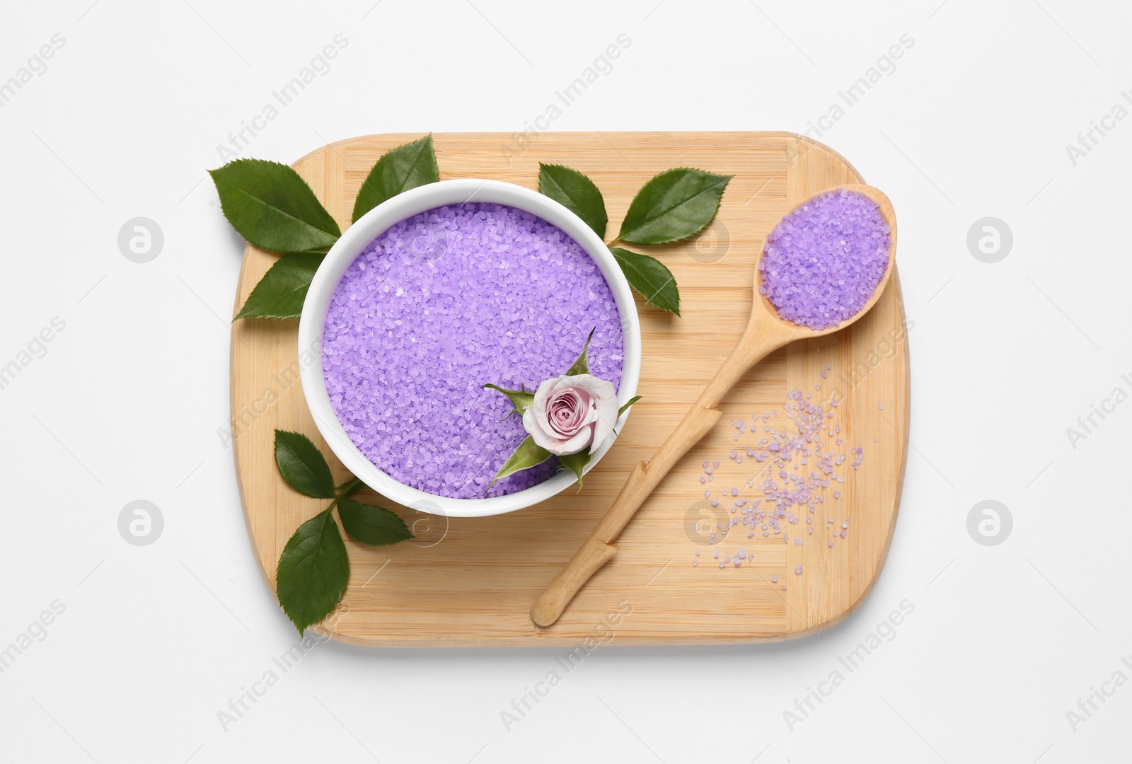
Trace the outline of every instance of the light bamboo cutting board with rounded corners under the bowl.
<path fill-rule="evenodd" d="M 319 148 L 294 168 L 345 229 L 354 196 L 386 151 L 419 135 L 365 136 Z M 691 242 L 636 248 L 659 257 L 680 287 L 683 318 L 637 300 L 643 338 L 637 403 L 609 453 L 585 479 L 554 499 L 495 517 L 445 518 L 363 492 L 409 523 L 417 539 L 369 548 L 346 538 L 350 585 L 335 613 L 317 627 L 354 644 L 384 646 L 680 644 L 764 642 L 811 634 L 844 618 L 868 594 L 884 565 L 903 483 L 909 422 L 907 333 L 898 275 L 873 310 L 850 328 L 773 353 L 731 390 L 717 428 L 694 447 L 642 506 L 618 539 L 618 553 L 580 592 L 549 628 L 534 626 L 530 608 L 571 559 L 612 504 L 625 478 L 648 460 L 677 424 L 735 346 L 751 315 L 757 248 L 798 200 L 838 183 L 864 182 L 833 151 L 784 132 L 548 132 L 438 134 L 440 178 L 492 178 L 538 188 L 539 162 L 586 173 L 601 189 L 610 235 L 633 195 L 655 173 L 693 166 L 734 174 L 719 215 Z M 899 214 L 899 211 L 898 211 Z M 907 255 L 906 255 L 907 257 Z M 243 304 L 276 256 L 245 249 L 235 295 Z M 234 311 L 233 311 L 234 312 Z M 232 437 L 248 534 L 272 592 L 286 540 L 326 506 L 288 488 L 275 469 L 274 430 L 309 436 L 335 470 L 348 473 L 321 440 L 303 400 L 299 367 L 314 358 L 297 347 L 298 320 L 241 320 L 233 325 Z M 826 378 L 821 372 L 829 364 Z M 815 387 L 821 385 L 822 389 Z M 775 412 L 766 426 L 796 428 L 783 404 L 789 390 L 811 403 L 837 394 L 833 411 L 844 444 L 864 449 L 856 471 L 850 457 L 838 471 L 846 483 L 817 505 L 815 533 L 799 529 L 803 546 L 781 535 L 747 539 L 737 525 L 719 547 L 744 547 L 752 560 L 718 567 L 695 523 L 713 512 L 704 501 L 724 487 L 757 497 L 771 462 L 728 458 L 732 448 L 757 445 L 762 423 L 752 414 Z M 883 409 L 881 407 L 883 405 Z M 735 440 L 728 422 L 746 419 Z M 752 431 L 752 430 L 755 431 Z M 830 448 L 833 445 L 830 444 Z M 704 461 L 720 462 L 714 480 L 701 484 Z M 777 469 L 775 469 L 777 471 Z M 773 475 L 772 475 L 773 477 Z M 833 490 L 841 491 L 833 499 Z M 721 507 L 730 503 L 720 501 Z M 764 504 L 766 504 L 764 501 Z M 797 510 L 799 516 L 805 508 Z M 826 546 L 826 523 L 844 521 L 844 540 Z M 805 521 L 803 521 L 805 522 Z M 740 533 L 741 531 L 741 533 Z M 695 550 L 701 556 L 695 557 Z M 720 557 L 720 559 L 723 559 Z M 698 566 L 693 561 L 698 560 Z M 797 566 L 803 573 L 796 574 Z M 777 577 L 775 583 L 771 582 Z M 786 590 L 782 590 L 786 584 Z"/>

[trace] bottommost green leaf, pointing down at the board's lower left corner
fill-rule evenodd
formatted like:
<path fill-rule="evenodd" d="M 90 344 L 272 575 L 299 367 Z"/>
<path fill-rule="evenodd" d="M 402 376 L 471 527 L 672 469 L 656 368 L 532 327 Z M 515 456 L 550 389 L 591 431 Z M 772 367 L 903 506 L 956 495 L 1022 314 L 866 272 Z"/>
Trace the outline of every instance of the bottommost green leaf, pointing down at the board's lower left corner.
<path fill-rule="evenodd" d="M 326 509 L 299 526 L 275 570 L 275 594 L 299 634 L 326 618 L 342 601 L 350 558 L 338 525 Z"/>

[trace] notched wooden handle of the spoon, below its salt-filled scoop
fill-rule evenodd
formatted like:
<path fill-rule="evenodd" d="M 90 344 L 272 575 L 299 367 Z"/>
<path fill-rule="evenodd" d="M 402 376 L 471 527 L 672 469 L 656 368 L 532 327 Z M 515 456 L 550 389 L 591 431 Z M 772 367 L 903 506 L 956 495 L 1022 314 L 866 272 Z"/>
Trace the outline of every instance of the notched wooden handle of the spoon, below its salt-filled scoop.
<path fill-rule="evenodd" d="M 550 626 L 558 620 L 585 582 L 617 553 L 614 541 L 633 518 L 637 508 L 644 504 L 680 457 L 707 435 L 722 417 L 715 405 L 723 395 L 751 367 L 772 350 L 784 345 L 790 338 L 789 335 L 752 321 L 738 346 L 707 383 L 700 400 L 684 415 L 679 426 L 668 436 L 648 464 L 637 463 L 598 527 L 534 602 L 531 618 L 535 624 Z"/>

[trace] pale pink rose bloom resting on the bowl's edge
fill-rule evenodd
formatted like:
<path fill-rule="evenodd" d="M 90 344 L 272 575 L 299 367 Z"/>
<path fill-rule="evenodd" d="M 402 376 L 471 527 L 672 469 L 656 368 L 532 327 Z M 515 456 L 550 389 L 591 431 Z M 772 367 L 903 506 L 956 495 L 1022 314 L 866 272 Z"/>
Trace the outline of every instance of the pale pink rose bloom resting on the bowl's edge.
<path fill-rule="evenodd" d="M 566 456 L 595 452 L 617 423 L 617 390 L 612 383 L 588 374 L 548 379 L 523 412 L 523 428 L 539 446 Z"/>

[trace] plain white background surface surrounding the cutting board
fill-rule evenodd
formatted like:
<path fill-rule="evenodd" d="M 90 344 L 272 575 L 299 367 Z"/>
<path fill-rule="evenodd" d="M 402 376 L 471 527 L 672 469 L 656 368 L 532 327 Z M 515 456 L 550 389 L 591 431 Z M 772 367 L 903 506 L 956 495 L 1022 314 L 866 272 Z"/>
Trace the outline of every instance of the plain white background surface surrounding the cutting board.
<path fill-rule="evenodd" d="M 53 317 L 66 329 L 0 390 L 0 647 L 51 602 L 66 611 L 0 675 L 0 758 L 1129 761 L 1132 687 L 1075 731 L 1066 718 L 1132 678 L 1132 404 L 1075 448 L 1066 436 L 1132 389 L 1132 120 L 1075 166 L 1065 148 L 1132 88 L 1126 5 L 473 1 L 6 9 L 0 79 L 53 34 L 66 44 L 0 108 L 0 364 Z M 241 242 L 204 171 L 337 33 L 331 71 L 243 155 L 523 130 L 621 33 L 631 48 L 552 129 L 805 131 L 911 35 L 823 137 L 893 199 L 916 321 L 900 520 L 855 616 L 780 645 L 602 647 L 511 731 L 500 711 L 563 650 L 328 643 L 222 728 L 295 634 L 216 435 Z M 165 237 L 144 265 L 117 244 L 136 216 Z M 966 243 L 985 216 L 1013 231 L 993 265 Z M 134 499 L 164 515 L 153 546 L 119 535 Z M 1013 515 L 1001 546 L 968 534 L 983 499 Z M 895 638 L 789 729 L 783 712 L 906 599 Z"/>

